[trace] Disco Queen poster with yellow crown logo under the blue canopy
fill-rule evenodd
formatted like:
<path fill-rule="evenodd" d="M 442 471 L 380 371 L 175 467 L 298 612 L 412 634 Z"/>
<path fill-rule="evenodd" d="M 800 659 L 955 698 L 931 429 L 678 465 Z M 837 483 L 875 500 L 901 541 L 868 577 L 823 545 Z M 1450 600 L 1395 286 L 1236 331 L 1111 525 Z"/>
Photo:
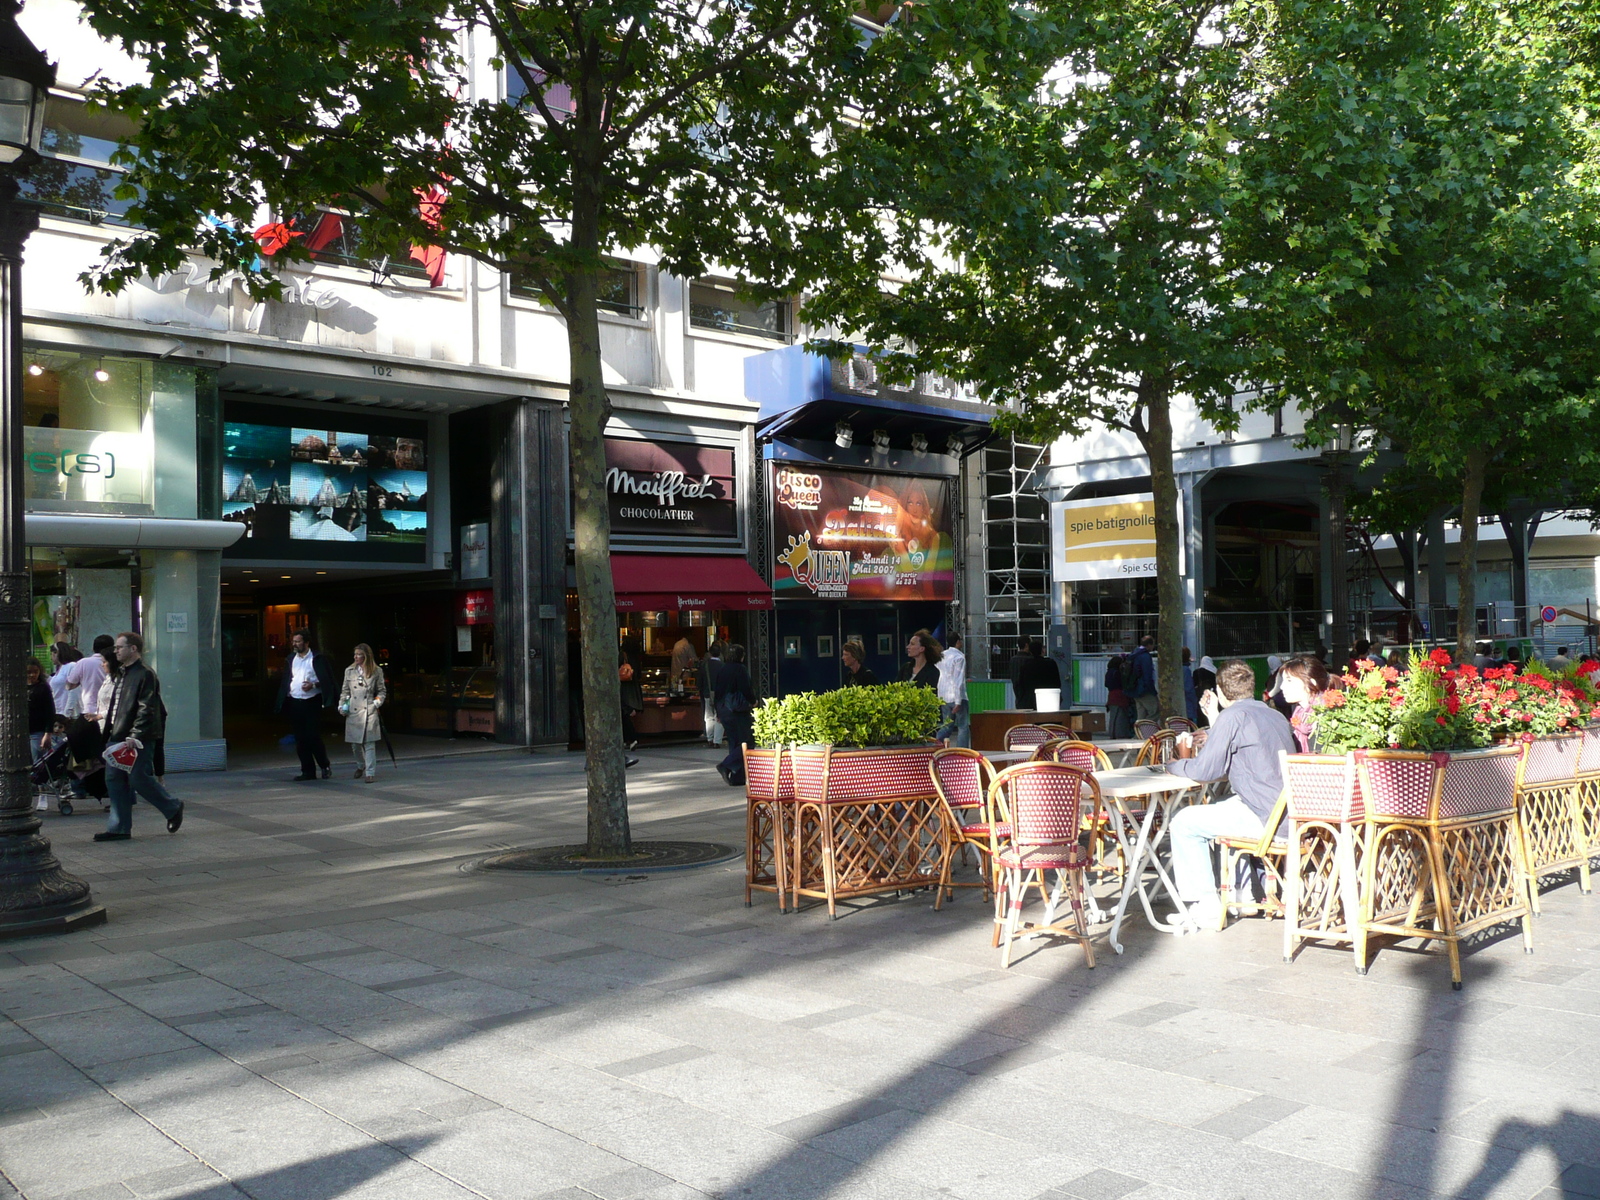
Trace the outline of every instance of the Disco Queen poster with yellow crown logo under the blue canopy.
<path fill-rule="evenodd" d="M 954 600 L 950 483 L 773 464 L 778 600 Z"/>

